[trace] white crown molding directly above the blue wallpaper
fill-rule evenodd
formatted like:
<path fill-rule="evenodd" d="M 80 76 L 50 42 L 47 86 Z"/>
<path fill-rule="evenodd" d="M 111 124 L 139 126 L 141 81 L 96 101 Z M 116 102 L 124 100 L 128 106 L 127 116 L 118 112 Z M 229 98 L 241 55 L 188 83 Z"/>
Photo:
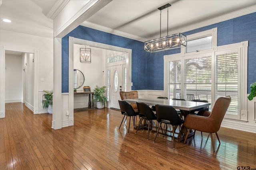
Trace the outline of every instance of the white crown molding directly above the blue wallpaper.
<path fill-rule="evenodd" d="M 236 12 L 231 12 L 229 14 L 225 14 L 225 15 L 222 15 L 222 16 L 219 16 L 219 17 L 216 17 L 216 18 L 212 18 L 210 20 L 202 21 L 200 23 L 196 23 L 196 24 L 192 24 L 192 25 L 189 25 L 189 26 L 186 26 L 186 27 L 182 27 L 182 28 L 179 28 L 179 29 L 174 29 L 172 31 L 168 31 L 168 35 L 172 35 L 172 34 L 178 33 L 178 32 L 183 33 L 183 32 L 186 32 L 186 31 L 191 31 L 191 30 L 194 30 L 194 29 L 197 29 L 197 28 L 200 28 L 200 27 L 205 27 L 207 25 L 212 25 L 214 23 L 230 20 L 230 19 L 233 19 L 233 18 L 236 18 L 236 17 L 247 15 L 247 14 L 251 14 L 253 12 L 256 12 L 256 5 L 250 6 L 248 8 L 244 8 L 242 10 L 238 10 Z M 101 25 L 90 23 L 88 21 L 84 21 L 80 25 L 82 25 L 84 27 L 89 27 L 89 28 L 92 28 L 92 29 L 96 29 L 96 30 L 99 30 L 99 31 L 104 31 L 106 33 L 111 33 L 111 34 L 114 34 L 114 35 L 119 35 L 119 36 L 122 36 L 122 37 L 134 39 L 134 40 L 141 41 L 141 42 L 145 42 L 145 41 L 149 41 L 151 39 L 159 38 L 159 36 L 154 36 L 154 37 L 146 39 L 146 38 L 142 38 L 142 37 L 139 37 L 139 36 L 136 36 L 136 35 L 124 33 L 122 31 L 118 31 L 118 30 L 115 30 L 115 29 L 111 29 L 111 28 L 108 28 L 108 27 L 104 27 L 104 26 L 101 26 Z"/>

